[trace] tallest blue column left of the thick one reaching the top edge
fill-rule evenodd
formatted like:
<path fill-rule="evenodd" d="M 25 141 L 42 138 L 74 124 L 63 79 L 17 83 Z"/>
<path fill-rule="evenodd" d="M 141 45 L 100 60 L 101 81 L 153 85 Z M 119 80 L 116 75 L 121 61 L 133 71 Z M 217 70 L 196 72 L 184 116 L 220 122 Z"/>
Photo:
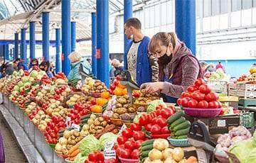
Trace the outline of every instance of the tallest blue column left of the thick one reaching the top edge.
<path fill-rule="evenodd" d="M 43 12 L 43 59 L 49 61 L 49 12 Z"/>

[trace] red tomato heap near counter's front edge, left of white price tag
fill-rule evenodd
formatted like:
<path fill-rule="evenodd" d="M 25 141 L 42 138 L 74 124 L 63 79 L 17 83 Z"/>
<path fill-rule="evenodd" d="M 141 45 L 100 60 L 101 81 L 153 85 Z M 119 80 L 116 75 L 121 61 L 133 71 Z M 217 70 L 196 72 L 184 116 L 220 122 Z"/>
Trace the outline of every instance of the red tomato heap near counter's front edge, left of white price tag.
<path fill-rule="evenodd" d="M 63 128 L 66 128 L 64 119 L 60 116 L 53 116 L 50 122 L 47 123 L 46 133 L 44 133 L 46 142 L 50 144 L 56 144 L 58 132 Z"/>

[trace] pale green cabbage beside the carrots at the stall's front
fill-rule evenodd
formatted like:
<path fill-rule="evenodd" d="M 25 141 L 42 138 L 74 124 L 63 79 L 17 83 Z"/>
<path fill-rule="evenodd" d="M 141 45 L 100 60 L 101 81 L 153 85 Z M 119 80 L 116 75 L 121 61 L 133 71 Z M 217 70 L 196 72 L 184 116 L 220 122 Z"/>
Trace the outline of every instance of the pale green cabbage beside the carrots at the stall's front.
<path fill-rule="evenodd" d="M 90 152 L 100 150 L 99 140 L 93 135 L 87 135 L 81 140 L 79 150 L 82 157 L 86 157 Z"/>

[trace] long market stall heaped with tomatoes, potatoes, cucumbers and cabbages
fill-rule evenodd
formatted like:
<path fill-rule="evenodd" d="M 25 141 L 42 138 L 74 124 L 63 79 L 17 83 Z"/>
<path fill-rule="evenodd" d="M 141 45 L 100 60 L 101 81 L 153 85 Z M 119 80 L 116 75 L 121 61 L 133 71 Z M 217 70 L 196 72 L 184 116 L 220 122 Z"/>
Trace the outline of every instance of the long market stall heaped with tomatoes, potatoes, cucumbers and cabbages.
<path fill-rule="evenodd" d="M 238 98 L 217 94 L 213 81 L 196 80 L 177 106 L 127 89 L 129 82 L 117 76 L 110 89 L 91 77 L 68 84 L 63 73 L 50 79 L 37 69 L 0 79 L 0 91 L 45 162 L 212 162 L 231 159 L 232 145 L 252 139 L 252 115 L 234 109 Z M 194 136 L 200 132 L 208 140 Z"/>

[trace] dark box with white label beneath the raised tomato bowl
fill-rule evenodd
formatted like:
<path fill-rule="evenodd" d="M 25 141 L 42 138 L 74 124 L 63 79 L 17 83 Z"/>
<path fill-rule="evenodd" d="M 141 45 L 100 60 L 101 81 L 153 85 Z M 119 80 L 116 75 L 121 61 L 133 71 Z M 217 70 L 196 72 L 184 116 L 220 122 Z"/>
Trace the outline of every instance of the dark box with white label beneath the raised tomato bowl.
<path fill-rule="evenodd" d="M 233 127 L 240 125 L 240 116 L 218 116 L 215 118 L 193 118 L 186 117 L 193 123 L 200 120 L 208 127 L 210 135 L 228 133 Z"/>

